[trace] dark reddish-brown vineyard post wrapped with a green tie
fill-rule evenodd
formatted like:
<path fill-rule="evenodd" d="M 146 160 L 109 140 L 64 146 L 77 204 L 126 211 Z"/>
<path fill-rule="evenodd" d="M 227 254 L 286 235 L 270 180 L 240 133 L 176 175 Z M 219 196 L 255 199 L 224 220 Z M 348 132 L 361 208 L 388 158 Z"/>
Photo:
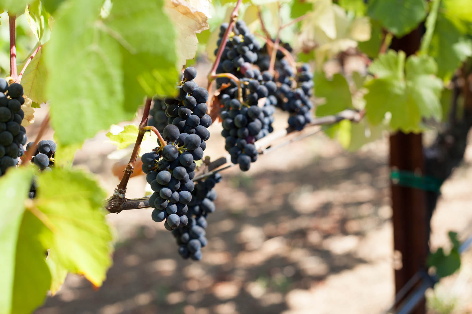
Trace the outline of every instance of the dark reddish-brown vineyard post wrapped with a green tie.
<path fill-rule="evenodd" d="M 419 48 L 420 39 L 421 32 L 416 29 L 400 39 L 394 38 L 390 48 L 403 50 L 409 56 Z M 421 133 L 398 132 L 390 136 L 390 167 L 424 176 Z M 395 270 L 396 293 L 426 264 L 430 223 L 426 195 L 421 189 L 391 183 L 394 250 L 401 254 L 401 265 Z M 425 305 L 423 300 L 412 313 L 426 313 Z"/>

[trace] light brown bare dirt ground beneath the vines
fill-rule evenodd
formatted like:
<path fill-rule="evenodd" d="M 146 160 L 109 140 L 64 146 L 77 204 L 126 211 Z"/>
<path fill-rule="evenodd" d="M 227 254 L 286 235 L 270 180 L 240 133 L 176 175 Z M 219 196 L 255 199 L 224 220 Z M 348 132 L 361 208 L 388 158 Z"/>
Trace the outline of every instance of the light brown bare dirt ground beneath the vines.
<path fill-rule="evenodd" d="M 211 128 L 205 153 L 217 157 L 223 138 Z M 75 164 L 111 194 L 119 179 L 106 158 L 114 146 L 104 140 L 102 132 L 86 142 Z M 103 286 L 69 274 L 36 313 L 381 313 L 394 296 L 387 161 L 387 139 L 347 153 L 319 134 L 260 156 L 246 173 L 225 171 L 201 262 L 180 258 L 152 209 L 110 214 L 116 250 Z M 448 245 L 449 230 L 471 231 L 471 166 L 472 145 L 442 187 L 433 248 Z M 144 182 L 132 178 L 127 196 L 143 196 Z M 430 292 L 431 313 L 472 313 L 471 253 L 439 288 Z M 442 310 L 450 304 L 452 312 Z"/>

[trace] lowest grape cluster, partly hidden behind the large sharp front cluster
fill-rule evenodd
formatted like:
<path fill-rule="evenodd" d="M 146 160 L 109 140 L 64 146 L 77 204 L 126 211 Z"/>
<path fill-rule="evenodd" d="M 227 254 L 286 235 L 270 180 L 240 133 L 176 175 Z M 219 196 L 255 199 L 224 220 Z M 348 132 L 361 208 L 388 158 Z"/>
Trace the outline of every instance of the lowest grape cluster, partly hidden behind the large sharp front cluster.
<path fill-rule="evenodd" d="M 182 258 L 202 259 L 201 248 L 207 245 L 205 229 L 208 226 L 207 216 L 215 211 L 217 197 L 214 186 L 221 181 L 219 173 L 207 177 L 195 184 L 192 201 L 188 204 L 188 224 L 172 231 L 179 246 L 178 252 Z"/>

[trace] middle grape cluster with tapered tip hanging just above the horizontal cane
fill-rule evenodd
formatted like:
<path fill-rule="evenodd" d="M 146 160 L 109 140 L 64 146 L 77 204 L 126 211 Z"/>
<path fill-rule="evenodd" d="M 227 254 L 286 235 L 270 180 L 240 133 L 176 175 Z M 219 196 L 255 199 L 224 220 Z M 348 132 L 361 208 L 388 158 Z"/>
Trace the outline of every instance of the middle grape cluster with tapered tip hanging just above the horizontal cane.
<path fill-rule="evenodd" d="M 237 98 L 237 87 L 224 89 L 219 95 L 225 149 L 231 155 L 231 162 L 239 164 L 243 171 L 249 170 L 251 162 L 257 160 L 254 142 L 273 131 L 273 114 L 278 101 L 272 74 L 257 69 L 248 71 L 254 74 L 255 79 L 240 80 L 243 103 Z M 260 107 L 259 102 L 264 98 Z"/>

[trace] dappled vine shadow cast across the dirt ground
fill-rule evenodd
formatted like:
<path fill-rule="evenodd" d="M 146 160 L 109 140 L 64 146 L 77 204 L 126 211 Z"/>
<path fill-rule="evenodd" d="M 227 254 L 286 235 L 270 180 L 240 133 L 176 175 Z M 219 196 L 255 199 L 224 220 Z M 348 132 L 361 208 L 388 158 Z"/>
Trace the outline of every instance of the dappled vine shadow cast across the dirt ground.
<path fill-rule="evenodd" d="M 69 275 L 36 313 L 286 311 L 289 291 L 323 285 L 332 274 L 369 263 L 355 248 L 389 218 L 385 163 L 341 156 L 348 167 L 318 158 L 290 171 L 224 175 L 201 262 L 182 260 L 162 226 L 137 226 L 133 238 L 117 243 L 100 290 Z"/>

